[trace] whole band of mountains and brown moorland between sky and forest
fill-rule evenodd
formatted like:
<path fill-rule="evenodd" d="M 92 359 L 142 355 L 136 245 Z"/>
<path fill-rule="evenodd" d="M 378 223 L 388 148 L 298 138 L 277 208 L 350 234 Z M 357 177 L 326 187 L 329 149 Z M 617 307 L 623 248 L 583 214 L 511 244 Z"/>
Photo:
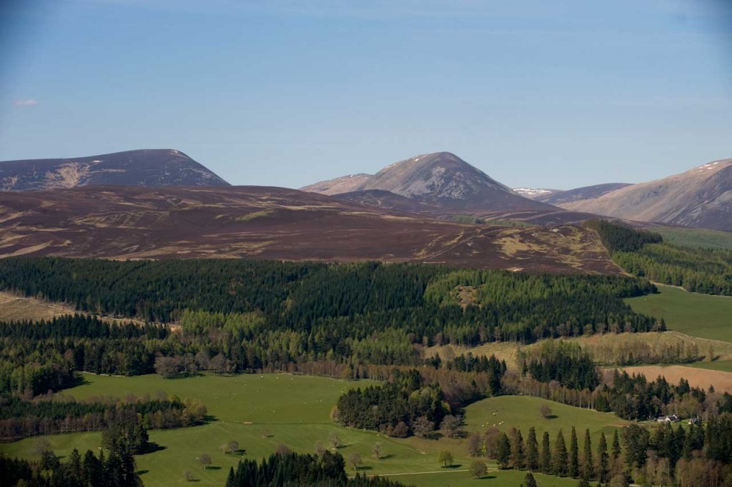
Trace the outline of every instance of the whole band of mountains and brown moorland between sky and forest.
<path fill-rule="evenodd" d="M 159 149 L 0 162 L 0 184 L 0 257 L 373 259 L 616 273 L 597 235 L 576 224 L 607 215 L 732 230 L 732 159 L 645 184 L 532 191 L 438 152 L 303 192 L 230 186 Z"/>

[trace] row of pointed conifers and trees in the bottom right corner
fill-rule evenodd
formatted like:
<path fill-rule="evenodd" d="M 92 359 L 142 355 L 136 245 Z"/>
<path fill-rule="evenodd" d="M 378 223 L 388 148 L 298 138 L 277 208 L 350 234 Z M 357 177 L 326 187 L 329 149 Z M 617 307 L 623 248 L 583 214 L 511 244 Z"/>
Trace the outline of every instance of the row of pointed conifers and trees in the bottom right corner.
<path fill-rule="evenodd" d="M 684 428 L 665 423 L 652 431 L 638 424 L 605 432 L 597 445 L 585 429 L 580 441 L 574 426 L 569 438 L 559 430 L 553 441 L 541 439 L 531 427 L 526 439 L 518 428 L 474 433 L 466 442 L 468 454 L 492 458 L 500 469 L 520 469 L 611 485 L 722 486 L 732 481 L 732 415 L 710 418 L 703 425 Z"/>

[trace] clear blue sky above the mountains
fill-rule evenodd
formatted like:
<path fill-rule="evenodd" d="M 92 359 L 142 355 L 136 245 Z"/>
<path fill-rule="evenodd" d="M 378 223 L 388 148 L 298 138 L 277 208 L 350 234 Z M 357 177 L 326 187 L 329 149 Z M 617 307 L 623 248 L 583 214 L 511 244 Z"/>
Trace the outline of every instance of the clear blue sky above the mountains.
<path fill-rule="evenodd" d="M 299 187 L 452 151 L 509 186 L 732 157 L 732 2 L 0 2 L 0 160 L 177 148 Z"/>

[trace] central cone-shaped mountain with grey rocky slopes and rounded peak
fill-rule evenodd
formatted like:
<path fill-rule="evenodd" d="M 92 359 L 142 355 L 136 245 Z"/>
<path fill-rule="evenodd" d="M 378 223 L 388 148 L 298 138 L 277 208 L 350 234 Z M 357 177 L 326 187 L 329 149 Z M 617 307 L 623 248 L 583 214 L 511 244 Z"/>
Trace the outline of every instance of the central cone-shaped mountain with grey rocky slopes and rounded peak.
<path fill-rule="evenodd" d="M 551 208 L 517 195 L 509 187 L 449 152 L 414 156 L 386 166 L 375 175 L 359 175 L 359 178 L 362 179 L 361 184 L 346 185 L 348 191 L 344 192 L 378 189 L 422 203 L 452 208 L 453 211 Z M 333 181 L 343 185 L 344 178 L 316 183 L 303 189 L 313 191 L 321 187 L 330 188 Z"/>

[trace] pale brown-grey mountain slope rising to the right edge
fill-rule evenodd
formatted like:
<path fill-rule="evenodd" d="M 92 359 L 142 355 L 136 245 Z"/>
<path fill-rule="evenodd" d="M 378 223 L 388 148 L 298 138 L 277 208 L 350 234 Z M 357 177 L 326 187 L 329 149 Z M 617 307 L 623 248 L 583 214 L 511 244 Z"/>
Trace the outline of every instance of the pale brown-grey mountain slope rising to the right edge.
<path fill-rule="evenodd" d="M 732 159 L 559 205 L 624 219 L 732 231 Z"/>

